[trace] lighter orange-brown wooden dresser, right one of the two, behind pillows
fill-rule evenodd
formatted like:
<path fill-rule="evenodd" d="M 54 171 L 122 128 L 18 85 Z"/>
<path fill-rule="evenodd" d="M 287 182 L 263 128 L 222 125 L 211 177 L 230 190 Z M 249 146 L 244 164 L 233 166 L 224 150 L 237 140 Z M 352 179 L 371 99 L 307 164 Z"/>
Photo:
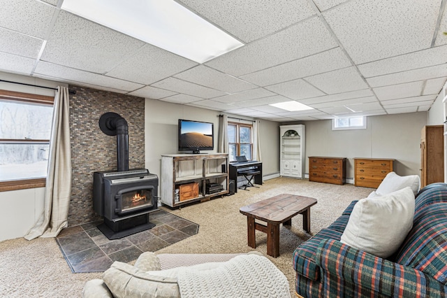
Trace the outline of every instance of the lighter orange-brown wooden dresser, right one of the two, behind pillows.
<path fill-rule="evenodd" d="M 354 185 L 377 188 L 393 171 L 394 159 L 354 158 Z"/>

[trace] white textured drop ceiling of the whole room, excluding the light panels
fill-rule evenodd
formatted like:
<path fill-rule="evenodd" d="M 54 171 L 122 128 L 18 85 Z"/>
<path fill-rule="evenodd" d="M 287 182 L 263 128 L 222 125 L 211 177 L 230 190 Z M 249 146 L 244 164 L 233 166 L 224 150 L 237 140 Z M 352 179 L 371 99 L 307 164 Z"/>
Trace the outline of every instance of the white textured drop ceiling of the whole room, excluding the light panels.
<path fill-rule="evenodd" d="M 446 83 L 446 0 L 179 0 L 244 43 L 204 64 L 62 2 L 0 0 L 0 71 L 277 122 L 428 111 Z"/>

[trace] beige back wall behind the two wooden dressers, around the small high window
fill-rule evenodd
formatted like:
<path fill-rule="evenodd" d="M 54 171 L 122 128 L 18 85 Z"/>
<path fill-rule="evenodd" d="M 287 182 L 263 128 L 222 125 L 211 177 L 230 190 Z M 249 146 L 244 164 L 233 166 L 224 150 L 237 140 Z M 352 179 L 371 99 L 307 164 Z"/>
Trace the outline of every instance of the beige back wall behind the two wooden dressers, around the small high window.
<path fill-rule="evenodd" d="M 367 129 L 332 131 L 332 120 L 307 121 L 306 173 L 309 156 L 346 157 L 346 178 L 354 175 L 354 157 L 392 158 L 399 175 L 420 174 L 420 131 L 427 113 L 370 116 Z"/>

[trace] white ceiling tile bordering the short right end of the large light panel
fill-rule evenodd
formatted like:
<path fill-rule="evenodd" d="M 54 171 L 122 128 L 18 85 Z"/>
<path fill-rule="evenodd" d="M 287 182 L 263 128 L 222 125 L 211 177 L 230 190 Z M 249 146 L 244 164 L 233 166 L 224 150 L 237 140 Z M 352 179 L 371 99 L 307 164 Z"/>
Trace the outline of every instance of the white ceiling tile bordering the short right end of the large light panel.
<path fill-rule="evenodd" d="M 328 29 L 312 17 L 205 64 L 239 77 L 336 47 Z"/>

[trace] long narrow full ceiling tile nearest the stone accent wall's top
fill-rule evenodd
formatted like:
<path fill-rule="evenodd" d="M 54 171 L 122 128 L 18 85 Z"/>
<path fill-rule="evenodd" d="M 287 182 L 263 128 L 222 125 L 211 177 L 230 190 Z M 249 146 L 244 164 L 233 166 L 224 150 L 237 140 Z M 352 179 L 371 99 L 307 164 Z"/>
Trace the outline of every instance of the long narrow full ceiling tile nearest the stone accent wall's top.
<path fill-rule="evenodd" d="M 109 78 L 96 73 L 71 69 L 65 66 L 51 64 L 48 62 L 39 62 L 34 71 L 36 75 L 50 76 L 52 78 L 61 78 L 71 82 L 86 83 L 90 85 L 98 85 L 102 87 L 113 88 L 115 90 L 133 91 L 143 87 L 143 85 L 118 80 L 117 78 Z"/>

